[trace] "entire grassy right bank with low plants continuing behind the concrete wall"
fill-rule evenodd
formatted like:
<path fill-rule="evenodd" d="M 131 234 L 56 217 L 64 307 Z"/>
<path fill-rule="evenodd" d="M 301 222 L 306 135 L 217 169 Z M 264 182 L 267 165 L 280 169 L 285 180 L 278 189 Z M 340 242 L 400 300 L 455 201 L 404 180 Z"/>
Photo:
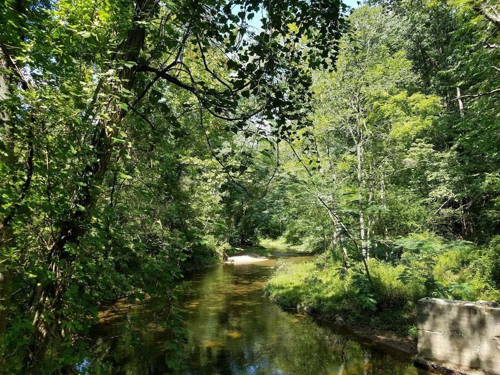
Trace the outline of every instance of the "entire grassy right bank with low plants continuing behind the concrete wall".
<path fill-rule="evenodd" d="M 403 252 L 392 261 L 369 259 L 372 285 L 363 278 L 361 264 L 342 272 L 340 263 L 324 253 L 307 263 L 279 262 L 264 293 L 282 307 L 407 337 L 416 335 L 416 301 L 424 296 L 500 300 L 495 278 L 498 243 L 443 244 L 435 238 L 416 242 L 417 256 Z"/>

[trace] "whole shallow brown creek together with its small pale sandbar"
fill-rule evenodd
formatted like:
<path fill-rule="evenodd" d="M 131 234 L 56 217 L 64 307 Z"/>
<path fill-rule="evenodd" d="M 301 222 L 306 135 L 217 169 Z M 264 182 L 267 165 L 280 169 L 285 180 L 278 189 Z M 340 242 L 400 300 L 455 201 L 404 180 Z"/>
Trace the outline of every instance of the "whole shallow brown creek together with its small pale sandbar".
<path fill-rule="evenodd" d="M 413 366 L 413 341 L 369 327 L 331 324 L 282 309 L 262 296 L 273 265 L 311 260 L 312 256 L 285 246 L 249 248 L 225 263 L 187 272 L 184 279 L 189 292 L 179 293 L 172 309 L 185 329 L 185 342 L 178 350 L 185 355 L 187 370 L 229 374 L 236 368 L 243 373 L 257 363 L 262 373 L 313 375 L 337 373 L 340 368 L 345 373 L 363 373 L 371 368 L 382 375 L 430 375 Z M 164 347 L 170 330 L 153 318 L 161 316 L 163 307 L 162 301 L 151 299 L 120 300 L 106 306 L 92 336 L 102 342 L 98 353 L 113 348 L 116 357 L 122 358 L 115 367 L 164 373 L 165 356 L 172 355 Z M 133 347 L 122 338 L 125 319 L 135 328 L 145 324 L 142 331 L 147 333 Z"/>

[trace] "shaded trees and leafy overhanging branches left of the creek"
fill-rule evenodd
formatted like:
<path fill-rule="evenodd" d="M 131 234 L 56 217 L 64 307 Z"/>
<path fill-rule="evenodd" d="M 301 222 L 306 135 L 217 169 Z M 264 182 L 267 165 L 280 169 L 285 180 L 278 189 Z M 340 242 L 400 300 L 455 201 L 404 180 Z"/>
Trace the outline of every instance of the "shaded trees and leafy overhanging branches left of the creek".
<path fill-rule="evenodd" d="M 163 301 L 166 364 L 181 368 L 182 272 L 251 242 L 252 202 L 287 123 L 304 126 L 342 11 L 1 1 L 2 370 L 81 371 L 99 309 L 123 297 Z M 127 325 L 137 339 L 149 330 Z"/>

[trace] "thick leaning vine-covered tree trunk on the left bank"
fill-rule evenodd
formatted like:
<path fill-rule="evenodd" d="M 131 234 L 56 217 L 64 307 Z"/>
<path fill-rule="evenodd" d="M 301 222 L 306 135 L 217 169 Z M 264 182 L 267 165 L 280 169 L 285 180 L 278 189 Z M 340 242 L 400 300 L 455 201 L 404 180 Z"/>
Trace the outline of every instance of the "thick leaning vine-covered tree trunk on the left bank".
<path fill-rule="evenodd" d="M 138 62 L 139 53 L 145 38 L 145 28 L 139 23 L 152 13 L 156 0 L 139 0 L 135 3 L 135 11 L 131 19 L 131 26 L 127 36 L 120 44 L 120 50 L 116 53 L 116 61 Z M 103 105 L 103 110 L 108 116 L 96 124 L 92 147 L 94 149 L 92 159 L 95 160 L 87 165 L 81 175 L 85 185 L 77 191 L 72 209 L 66 218 L 59 224 L 58 235 L 47 254 L 48 269 L 56 274 L 55 280 L 47 283 L 41 290 L 34 290 L 30 311 L 33 316 L 32 324 L 35 327 L 29 350 L 24 358 L 24 371 L 29 373 L 30 368 L 36 365 L 45 354 L 49 335 L 61 335 L 58 321 L 59 311 L 63 304 L 63 295 L 67 286 L 67 278 L 71 272 L 71 264 L 76 257 L 77 251 L 70 251 L 68 246 L 77 249 L 80 238 L 85 234 L 86 223 L 91 218 L 92 210 L 97 200 L 97 192 L 94 186 L 98 186 L 108 169 L 109 160 L 113 152 L 112 137 L 116 136 L 119 126 L 123 120 L 126 110 L 120 105 L 126 102 L 122 97 L 125 91 L 132 88 L 136 76 L 134 66 L 124 66 L 119 73 L 119 80 L 112 87 L 109 99 Z M 44 312 L 54 315 L 53 323 L 48 324 L 43 318 Z"/>

